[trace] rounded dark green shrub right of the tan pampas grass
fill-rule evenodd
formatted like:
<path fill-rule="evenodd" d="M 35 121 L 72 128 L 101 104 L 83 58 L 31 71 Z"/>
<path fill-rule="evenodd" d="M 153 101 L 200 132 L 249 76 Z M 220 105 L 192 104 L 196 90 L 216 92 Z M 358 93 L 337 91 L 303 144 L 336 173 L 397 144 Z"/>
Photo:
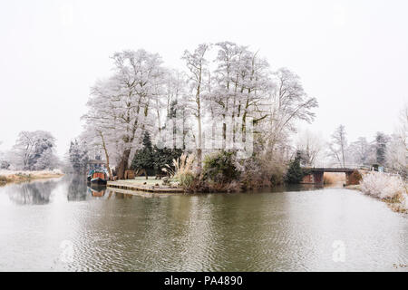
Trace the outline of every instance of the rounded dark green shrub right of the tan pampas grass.
<path fill-rule="evenodd" d="M 204 179 L 223 184 L 237 180 L 239 171 L 237 169 L 234 152 L 219 151 L 205 157 L 203 167 Z"/>

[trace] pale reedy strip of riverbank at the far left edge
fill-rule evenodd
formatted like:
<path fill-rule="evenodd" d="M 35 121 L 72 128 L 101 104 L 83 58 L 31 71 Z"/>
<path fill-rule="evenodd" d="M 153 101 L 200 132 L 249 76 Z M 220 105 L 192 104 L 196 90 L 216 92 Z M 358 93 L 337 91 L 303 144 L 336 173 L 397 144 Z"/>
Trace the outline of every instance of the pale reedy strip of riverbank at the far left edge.
<path fill-rule="evenodd" d="M 34 179 L 53 179 L 63 176 L 63 172 L 59 169 L 27 171 L 27 170 L 0 170 L 0 186 L 7 183 L 18 183 L 31 181 Z"/>

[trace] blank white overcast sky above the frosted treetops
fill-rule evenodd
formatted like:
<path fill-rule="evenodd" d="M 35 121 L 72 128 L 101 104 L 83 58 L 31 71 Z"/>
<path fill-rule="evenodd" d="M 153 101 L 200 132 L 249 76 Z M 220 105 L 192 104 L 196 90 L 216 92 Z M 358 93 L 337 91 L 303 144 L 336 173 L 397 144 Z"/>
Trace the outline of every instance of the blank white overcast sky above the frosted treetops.
<path fill-rule="evenodd" d="M 297 73 L 319 102 L 309 128 L 348 140 L 391 133 L 408 100 L 408 1 L 0 0 L 0 150 L 51 131 L 62 156 L 82 131 L 90 87 L 123 49 L 160 53 L 232 41 Z"/>

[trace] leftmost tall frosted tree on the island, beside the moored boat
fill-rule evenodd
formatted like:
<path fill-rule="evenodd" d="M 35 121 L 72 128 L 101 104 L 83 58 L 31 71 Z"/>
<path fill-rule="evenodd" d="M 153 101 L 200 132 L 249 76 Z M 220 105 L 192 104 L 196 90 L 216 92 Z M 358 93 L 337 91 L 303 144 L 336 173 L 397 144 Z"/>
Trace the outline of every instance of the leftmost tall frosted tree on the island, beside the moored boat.
<path fill-rule="evenodd" d="M 134 143 L 140 141 L 141 131 L 154 127 L 150 109 L 157 108 L 155 100 L 160 97 L 159 82 L 163 72 L 160 55 L 145 50 L 114 53 L 112 60 L 114 74 L 92 88 L 88 102 L 90 111 L 84 119 L 91 128 L 97 129 L 101 140 L 109 135 L 110 143 L 116 143 L 116 148 L 120 149 L 117 174 L 122 179 Z"/>

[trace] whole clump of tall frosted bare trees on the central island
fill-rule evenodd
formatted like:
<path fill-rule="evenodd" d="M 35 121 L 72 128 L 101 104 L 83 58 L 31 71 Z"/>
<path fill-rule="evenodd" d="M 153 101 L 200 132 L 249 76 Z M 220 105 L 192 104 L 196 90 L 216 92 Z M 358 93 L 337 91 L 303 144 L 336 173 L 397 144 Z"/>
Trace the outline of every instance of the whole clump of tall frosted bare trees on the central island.
<path fill-rule="evenodd" d="M 194 151 L 201 166 L 203 154 L 229 150 L 230 141 L 237 149 L 248 124 L 254 156 L 273 164 L 289 160 L 296 123 L 313 121 L 317 107 L 295 73 L 274 73 L 258 52 L 231 42 L 199 44 L 182 59 L 186 69 L 179 72 L 164 68 L 156 53 L 113 54 L 112 75 L 92 86 L 82 136 L 89 150 L 104 152 L 108 169 L 116 166 L 123 178 L 130 157 L 141 150 L 143 131 L 160 150 L 166 143 Z M 161 142 L 169 132 L 172 141 Z"/>

